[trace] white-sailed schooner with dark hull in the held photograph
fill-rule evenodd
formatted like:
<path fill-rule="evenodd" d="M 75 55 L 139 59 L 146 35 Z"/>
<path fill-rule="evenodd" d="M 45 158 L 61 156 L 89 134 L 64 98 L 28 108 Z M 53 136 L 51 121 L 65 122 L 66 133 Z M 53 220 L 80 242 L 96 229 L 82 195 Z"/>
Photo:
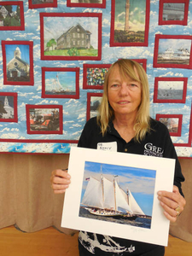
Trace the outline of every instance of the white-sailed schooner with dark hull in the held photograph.
<path fill-rule="evenodd" d="M 102 165 L 101 165 L 102 172 Z M 113 177 L 109 181 L 101 173 L 101 179 L 89 177 L 89 182 L 84 192 L 81 205 L 90 213 L 113 218 L 131 218 L 145 216 L 145 213 L 137 204 L 130 189 L 125 192 Z"/>

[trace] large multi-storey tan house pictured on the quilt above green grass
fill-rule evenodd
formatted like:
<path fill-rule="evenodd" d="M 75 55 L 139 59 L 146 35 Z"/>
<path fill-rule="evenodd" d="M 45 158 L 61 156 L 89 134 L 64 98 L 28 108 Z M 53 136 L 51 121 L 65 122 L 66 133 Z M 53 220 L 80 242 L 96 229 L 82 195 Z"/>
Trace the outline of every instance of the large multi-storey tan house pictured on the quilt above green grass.
<path fill-rule="evenodd" d="M 72 26 L 56 40 L 56 49 L 90 49 L 90 35 L 91 32 L 84 30 L 83 26 Z"/>

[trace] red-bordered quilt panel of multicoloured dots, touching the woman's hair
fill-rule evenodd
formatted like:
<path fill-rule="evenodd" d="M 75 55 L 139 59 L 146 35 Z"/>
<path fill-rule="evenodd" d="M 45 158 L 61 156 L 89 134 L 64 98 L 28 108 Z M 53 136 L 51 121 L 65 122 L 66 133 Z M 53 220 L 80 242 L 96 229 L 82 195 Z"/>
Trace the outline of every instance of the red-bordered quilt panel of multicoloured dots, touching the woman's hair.
<path fill-rule="evenodd" d="M 103 89 L 105 74 L 111 64 L 84 64 L 84 89 Z"/>

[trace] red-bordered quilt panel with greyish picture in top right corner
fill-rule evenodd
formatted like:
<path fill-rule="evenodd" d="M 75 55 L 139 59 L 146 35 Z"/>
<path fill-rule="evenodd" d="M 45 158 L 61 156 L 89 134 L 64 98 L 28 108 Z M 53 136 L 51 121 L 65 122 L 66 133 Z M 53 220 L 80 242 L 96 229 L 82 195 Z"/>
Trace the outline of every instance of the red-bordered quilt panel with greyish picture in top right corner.
<path fill-rule="evenodd" d="M 188 24 L 189 0 L 160 0 L 159 25 Z"/>

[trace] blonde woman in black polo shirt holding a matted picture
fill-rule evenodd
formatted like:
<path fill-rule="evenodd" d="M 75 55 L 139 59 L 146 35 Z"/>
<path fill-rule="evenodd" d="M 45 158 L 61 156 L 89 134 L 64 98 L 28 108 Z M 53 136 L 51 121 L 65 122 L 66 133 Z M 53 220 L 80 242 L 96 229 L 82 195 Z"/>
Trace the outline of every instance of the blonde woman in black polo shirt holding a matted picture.
<path fill-rule="evenodd" d="M 113 63 L 105 77 L 99 114 L 84 125 L 79 147 L 166 157 L 176 160 L 172 193 L 159 191 L 160 205 L 166 218 L 175 222 L 183 211 L 184 181 L 177 154 L 165 125 L 149 117 L 148 79 L 136 61 Z M 166 180 L 166 177 L 165 177 Z M 51 175 L 55 194 L 64 193 L 70 183 L 67 172 L 55 170 Z M 158 235 L 157 235 L 158 236 Z M 79 255 L 155 255 L 165 248 L 139 241 L 79 232 Z"/>

